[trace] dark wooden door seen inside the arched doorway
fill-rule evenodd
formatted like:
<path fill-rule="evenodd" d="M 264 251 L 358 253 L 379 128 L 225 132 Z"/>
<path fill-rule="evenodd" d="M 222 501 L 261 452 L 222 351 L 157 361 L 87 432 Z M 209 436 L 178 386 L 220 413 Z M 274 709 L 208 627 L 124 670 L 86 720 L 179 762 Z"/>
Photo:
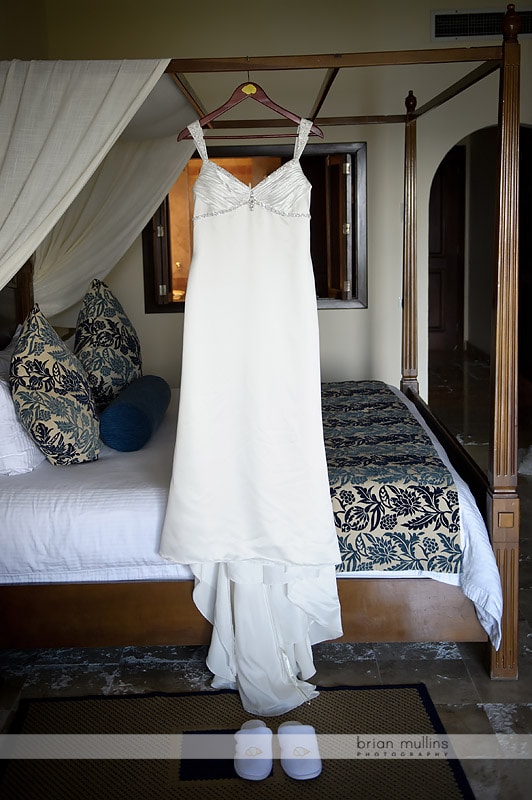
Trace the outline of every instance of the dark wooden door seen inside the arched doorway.
<path fill-rule="evenodd" d="M 461 349 L 464 337 L 465 148 L 434 176 L 429 205 L 429 350 Z"/>

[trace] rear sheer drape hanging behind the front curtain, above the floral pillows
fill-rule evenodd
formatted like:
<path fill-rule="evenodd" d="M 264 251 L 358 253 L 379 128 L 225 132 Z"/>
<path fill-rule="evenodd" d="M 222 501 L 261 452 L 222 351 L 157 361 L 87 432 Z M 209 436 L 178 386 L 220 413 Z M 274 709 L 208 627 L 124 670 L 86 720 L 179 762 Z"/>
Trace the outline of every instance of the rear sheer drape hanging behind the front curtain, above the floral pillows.
<path fill-rule="evenodd" d="M 133 243 L 194 152 L 175 135 L 117 142 L 37 248 L 35 300 L 47 316 L 69 308 L 92 278 L 105 278 Z"/>

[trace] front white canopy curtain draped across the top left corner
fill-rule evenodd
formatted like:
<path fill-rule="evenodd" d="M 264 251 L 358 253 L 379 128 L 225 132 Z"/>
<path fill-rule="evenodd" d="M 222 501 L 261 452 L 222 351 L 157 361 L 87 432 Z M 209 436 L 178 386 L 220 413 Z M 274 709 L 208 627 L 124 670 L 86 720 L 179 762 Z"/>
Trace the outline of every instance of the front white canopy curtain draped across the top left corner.
<path fill-rule="evenodd" d="M 0 288 L 86 184 L 167 64 L 0 62 Z"/>

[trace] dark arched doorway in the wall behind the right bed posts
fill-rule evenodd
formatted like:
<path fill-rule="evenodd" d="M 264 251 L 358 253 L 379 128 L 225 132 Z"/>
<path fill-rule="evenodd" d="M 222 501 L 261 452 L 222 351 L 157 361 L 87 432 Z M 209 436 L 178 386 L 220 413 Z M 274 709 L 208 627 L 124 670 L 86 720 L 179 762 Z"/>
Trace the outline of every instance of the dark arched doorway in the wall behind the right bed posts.
<path fill-rule="evenodd" d="M 497 150 L 495 127 L 475 131 L 453 147 L 435 174 L 429 206 L 429 403 L 483 468 L 487 468 L 490 439 Z M 532 130 L 522 126 L 519 447 L 523 449 L 532 444 L 530 185 Z"/>

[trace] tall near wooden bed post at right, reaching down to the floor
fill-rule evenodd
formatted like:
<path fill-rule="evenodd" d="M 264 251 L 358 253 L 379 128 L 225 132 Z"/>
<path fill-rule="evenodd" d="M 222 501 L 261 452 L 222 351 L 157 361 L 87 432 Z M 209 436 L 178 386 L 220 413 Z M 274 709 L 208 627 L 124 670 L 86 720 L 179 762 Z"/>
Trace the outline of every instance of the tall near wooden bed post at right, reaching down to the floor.
<path fill-rule="evenodd" d="M 491 677 L 518 675 L 519 497 L 517 494 L 517 313 L 519 278 L 519 17 L 509 5 L 503 23 L 499 95 L 500 185 L 497 210 L 492 344 L 492 429 L 488 519 L 503 588 L 500 650 Z"/>

